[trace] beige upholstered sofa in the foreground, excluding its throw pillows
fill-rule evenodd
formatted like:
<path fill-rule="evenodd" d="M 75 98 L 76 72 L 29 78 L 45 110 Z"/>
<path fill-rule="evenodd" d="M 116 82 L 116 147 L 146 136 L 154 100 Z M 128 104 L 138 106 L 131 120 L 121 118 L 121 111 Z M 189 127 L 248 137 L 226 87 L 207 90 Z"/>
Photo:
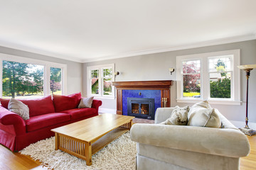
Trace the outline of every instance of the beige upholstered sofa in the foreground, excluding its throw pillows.
<path fill-rule="evenodd" d="M 159 125 L 174 108 L 158 108 L 155 124 L 137 123 L 131 138 L 137 142 L 137 170 L 239 169 L 240 157 L 250 152 L 247 137 L 217 109 L 222 128 Z"/>

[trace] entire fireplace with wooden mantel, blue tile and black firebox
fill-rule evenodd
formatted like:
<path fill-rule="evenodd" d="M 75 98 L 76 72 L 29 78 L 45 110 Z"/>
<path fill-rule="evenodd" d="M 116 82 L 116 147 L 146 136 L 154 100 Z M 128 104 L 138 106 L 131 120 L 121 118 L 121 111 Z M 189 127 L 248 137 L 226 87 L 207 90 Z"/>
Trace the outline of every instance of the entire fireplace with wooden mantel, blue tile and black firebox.
<path fill-rule="evenodd" d="M 117 96 L 117 114 L 154 119 L 157 108 L 170 107 L 171 80 L 114 81 Z"/>

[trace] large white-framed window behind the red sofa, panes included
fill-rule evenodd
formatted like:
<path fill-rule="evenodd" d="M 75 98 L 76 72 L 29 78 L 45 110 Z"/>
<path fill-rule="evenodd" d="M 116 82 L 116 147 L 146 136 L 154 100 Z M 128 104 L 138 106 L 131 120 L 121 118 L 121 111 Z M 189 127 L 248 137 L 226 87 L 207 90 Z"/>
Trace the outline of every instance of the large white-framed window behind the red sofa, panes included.
<path fill-rule="evenodd" d="M 4 54 L 0 54 L 0 63 L 1 98 L 28 99 L 65 94 L 65 64 Z"/>

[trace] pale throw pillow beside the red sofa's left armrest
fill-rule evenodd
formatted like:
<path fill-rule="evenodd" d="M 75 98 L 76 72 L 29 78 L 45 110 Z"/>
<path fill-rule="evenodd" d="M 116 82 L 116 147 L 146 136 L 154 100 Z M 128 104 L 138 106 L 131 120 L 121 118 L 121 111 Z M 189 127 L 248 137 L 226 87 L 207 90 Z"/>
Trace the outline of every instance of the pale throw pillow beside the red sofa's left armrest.
<path fill-rule="evenodd" d="M 29 108 L 28 106 L 26 106 L 26 104 L 22 103 L 21 101 L 11 98 L 11 100 L 8 103 L 8 109 L 9 111 L 20 115 L 21 118 L 23 118 L 23 120 L 29 119 Z"/>

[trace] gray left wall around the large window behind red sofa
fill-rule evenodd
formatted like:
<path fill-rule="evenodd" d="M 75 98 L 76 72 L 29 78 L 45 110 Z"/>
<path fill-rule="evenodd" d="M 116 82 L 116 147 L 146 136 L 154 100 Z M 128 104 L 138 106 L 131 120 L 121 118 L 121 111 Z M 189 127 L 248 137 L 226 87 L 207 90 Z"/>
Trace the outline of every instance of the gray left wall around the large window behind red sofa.
<path fill-rule="evenodd" d="M 57 62 L 61 64 L 67 64 L 68 73 L 68 94 L 82 92 L 82 64 L 79 62 L 71 62 L 68 60 L 61 60 L 55 57 L 48 57 L 46 55 L 38 55 L 32 52 L 25 52 L 21 50 L 15 50 L 8 47 L 0 46 L 0 53 L 7 55 L 16 55 L 19 57 L 27 57 L 36 60 L 45 60 L 48 62 Z"/>

